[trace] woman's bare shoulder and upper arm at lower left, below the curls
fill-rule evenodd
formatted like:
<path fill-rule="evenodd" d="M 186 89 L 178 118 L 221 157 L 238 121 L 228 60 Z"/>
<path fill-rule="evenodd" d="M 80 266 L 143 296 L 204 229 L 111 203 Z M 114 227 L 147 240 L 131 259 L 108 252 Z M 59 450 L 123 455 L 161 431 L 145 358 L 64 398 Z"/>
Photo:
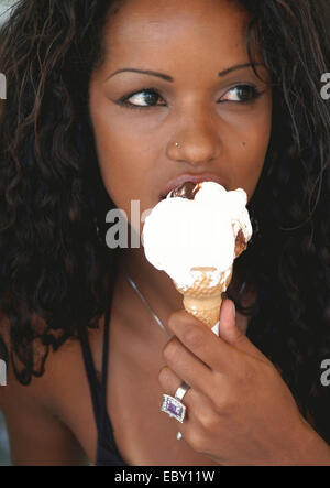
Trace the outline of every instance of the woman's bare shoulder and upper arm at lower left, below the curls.
<path fill-rule="evenodd" d="M 10 353 L 9 326 L 2 314 L 0 335 Z M 13 464 L 88 464 L 69 423 L 56 414 L 63 392 L 73 391 L 80 356 L 78 341 L 67 339 L 56 353 L 50 349 L 44 375 L 33 377 L 28 386 L 18 380 L 12 365 L 8 365 L 7 384 L 0 387 L 0 410 Z"/>

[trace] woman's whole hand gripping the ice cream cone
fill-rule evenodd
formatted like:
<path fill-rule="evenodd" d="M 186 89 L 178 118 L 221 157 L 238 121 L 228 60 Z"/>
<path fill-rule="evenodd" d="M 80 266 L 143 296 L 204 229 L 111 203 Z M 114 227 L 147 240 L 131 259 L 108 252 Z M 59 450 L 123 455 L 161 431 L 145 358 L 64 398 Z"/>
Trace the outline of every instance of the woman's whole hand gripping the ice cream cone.
<path fill-rule="evenodd" d="M 233 302 L 222 303 L 220 337 L 185 311 L 168 328 L 158 380 L 170 395 L 182 380 L 191 387 L 183 438 L 221 465 L 299 464 L 312 429 L 273 364 L 238 329 Z"/>

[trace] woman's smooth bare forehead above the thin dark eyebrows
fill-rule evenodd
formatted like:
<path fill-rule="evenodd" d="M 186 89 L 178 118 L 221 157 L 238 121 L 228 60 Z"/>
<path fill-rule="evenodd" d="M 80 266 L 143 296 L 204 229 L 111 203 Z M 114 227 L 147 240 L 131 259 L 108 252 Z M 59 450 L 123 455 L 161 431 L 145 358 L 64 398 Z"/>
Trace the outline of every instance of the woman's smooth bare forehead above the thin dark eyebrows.
<path fill-rule="evenodd" d="M 202 57 L 205 65 L 223 59 L 226 68 L 227 58 L 246 61 L 250 15 L 237 0 L 124 0 L 117 6 L 103 31 L 106 62 L 113 67 L 147 61 L 174 71 L 179 59 Z"/>

